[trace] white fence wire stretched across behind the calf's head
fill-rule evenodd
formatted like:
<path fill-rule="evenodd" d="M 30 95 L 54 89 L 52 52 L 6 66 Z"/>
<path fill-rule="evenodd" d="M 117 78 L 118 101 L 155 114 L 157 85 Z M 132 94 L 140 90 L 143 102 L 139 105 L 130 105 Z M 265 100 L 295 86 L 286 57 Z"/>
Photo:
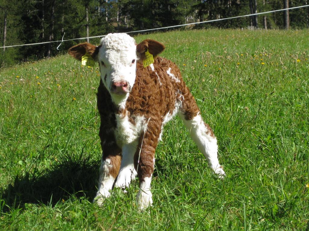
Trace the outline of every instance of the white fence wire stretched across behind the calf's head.
<path fill-rule="evenodd" d="M 253 15 L 259 15 L 259 14 L 269 14 L 269 13 L 283 11 L 283 10 L 293 10 L 293 9 L 298 9 L 298 8 L 303 8 L 303 7 L 308 7 L 308 6 L 309 5 L 294 6 L 294 7 L 280 9 L 280 10 L 270 10 L 270 11 L 255 13 L 255 14 L 246 14 L 246 15 L 234 16 L 234 17 L 230 17 L 230 18 L 220 18 L 220 19 L 214 19 L 214 20 L 203 21 L 203 22 L 192 22 L 192 23 L 186 23 L 186 24 L 181 24 L 181 25 L 165 26 L 165 27 L 146 29 L 146 30 L 134 30 L 134 31 L 129 31 L 129 32 L 125 32 L 125 33 L 129 34 L 129 33 L 136 33 L 136 32 L 144 32 L 144 31 L 152 31 L 152 30 L 161 30 L 161 29 L 175 28 L 175 27 L 180 27 L 180 26 L 196 25 L 196 24 L 201 24 L 201 23 L 206 23 L 206 22 L 217 22 L 217 21 L 222 21 L 222 20 L 228 20 L 228 19 L 233 19 L 233 18 L 242 18 L 242 17 L 248 17 L 248 16 L 253 16 Z M 77 39 L 65 39 L 65 40 L 42 42 L 42 43 L 28 43 L 28 44 L 12 45 L 12 46 L 5 46 L 5 47 L 31 46 L 31 45 L 38 45 L 38 44 L 44 44 L 44 43 L 57 43 L 57 42 L 66 42 L 66 41 L 71 41 L 71 40 L 93 39 L 93 38 L 100 38 L 100 37 L 104 37 L 104 36 L 106 36 L 106 34 L 104 34 L 104 35 L 97 35 L 97 36 L 91 36 L 91 37 L 77 38 Z M 0 48 L 4 48 L 4 47 L 0 47 Z"/>

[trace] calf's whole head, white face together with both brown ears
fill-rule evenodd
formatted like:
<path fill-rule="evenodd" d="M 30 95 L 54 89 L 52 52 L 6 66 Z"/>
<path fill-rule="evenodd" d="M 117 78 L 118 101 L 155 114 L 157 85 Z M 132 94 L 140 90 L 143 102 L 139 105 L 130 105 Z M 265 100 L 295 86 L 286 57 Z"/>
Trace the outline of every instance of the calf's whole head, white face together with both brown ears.
<path fill-rule="evenodd" d="M 137 59 L 144 60 L 147 50 L 156 56 L 164 48 L 162 43 L 152 39 L 145 39 L 136 45 L 135 40 L 128 34 L 115 33 L 106 35 L 98 47 L 90 43 L 80 43 L 71 47 L 68 53 L 78 60 L 88 53 L 98 61 L 103 84 L 113 102 L 124 108 L 135 82 Z"/>

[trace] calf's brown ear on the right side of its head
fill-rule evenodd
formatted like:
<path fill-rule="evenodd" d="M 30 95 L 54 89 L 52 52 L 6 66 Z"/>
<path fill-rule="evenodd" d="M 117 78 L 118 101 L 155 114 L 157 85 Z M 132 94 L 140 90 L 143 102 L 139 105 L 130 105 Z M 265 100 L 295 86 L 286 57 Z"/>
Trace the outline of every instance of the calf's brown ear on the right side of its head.
<path fill-rule="evenodd" d="M 165 46 L 162 43 L 159 43 L 152 39 L 146 39 L 136 45 L 137 56 L 140 60 L 145 59 L 145 51 L 149 51 L 149 53 L 153 56 L 159 55 L 162 51 L 164 51 Z"/>

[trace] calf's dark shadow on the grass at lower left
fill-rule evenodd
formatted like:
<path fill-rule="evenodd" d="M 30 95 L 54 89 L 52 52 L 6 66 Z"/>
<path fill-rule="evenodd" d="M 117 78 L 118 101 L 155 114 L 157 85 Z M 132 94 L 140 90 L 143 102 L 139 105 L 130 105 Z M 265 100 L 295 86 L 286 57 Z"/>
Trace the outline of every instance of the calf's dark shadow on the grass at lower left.
<path fill-rule="evenodd" d="M 91 201 L 97 190 L 100 161 L 90 158 L 66 159 L 57 162 L 51 170 L 33 170 L 16 176 L 14 183 L 1 188 L 2 212 L 25 207 L 26 203 L 56 205 L 62 199 L 74 196 Z M 34 168 L 35 169 L 35 168 Z M 7 206 L 3 206 L 4 203 Z"/>

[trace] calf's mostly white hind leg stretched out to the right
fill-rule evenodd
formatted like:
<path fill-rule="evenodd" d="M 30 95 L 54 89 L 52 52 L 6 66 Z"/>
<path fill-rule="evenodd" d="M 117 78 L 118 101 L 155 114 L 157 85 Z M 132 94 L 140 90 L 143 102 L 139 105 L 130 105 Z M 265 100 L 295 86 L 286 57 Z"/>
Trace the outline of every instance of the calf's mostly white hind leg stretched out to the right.
<path fill-rule="evenodd" d="M 188 94 L 187 97 L 190 100 L 183 102 L 178 115 L 190 131 L 190 136 L 197 144 L 197 148 L 206 157 L 209 167 L 218 177 L 224 178 L 225 172 L 218 160 L 217 138 L 214 136 L 210 126 L 203 121 L 193 96 Z"/>

